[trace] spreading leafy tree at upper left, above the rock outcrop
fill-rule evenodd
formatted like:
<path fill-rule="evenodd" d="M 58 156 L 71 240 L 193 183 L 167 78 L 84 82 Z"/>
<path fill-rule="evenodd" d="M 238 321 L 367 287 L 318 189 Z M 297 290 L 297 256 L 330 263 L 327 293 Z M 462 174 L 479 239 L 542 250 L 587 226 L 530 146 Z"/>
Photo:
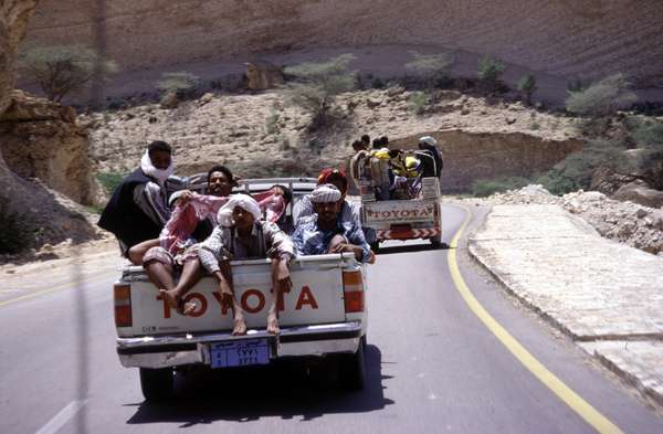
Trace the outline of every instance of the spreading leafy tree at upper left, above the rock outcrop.
<path fill-rule="evenodd" d="M 21 54 L 19 65 L 36 80 L 46 98 L 54 102 L 87 86 L 95 74 L 104 80 L 117 72 L 115 62 L 83 45 L 32 49 Z"/>

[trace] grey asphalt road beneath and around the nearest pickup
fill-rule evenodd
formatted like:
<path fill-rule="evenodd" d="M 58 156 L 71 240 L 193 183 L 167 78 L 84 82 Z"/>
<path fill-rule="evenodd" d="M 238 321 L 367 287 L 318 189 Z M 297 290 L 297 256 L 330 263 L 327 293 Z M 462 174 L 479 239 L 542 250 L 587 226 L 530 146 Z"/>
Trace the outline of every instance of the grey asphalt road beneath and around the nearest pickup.
<path fill-rule="evenodd" d="M 474 212 L 465 234 L 481 221 Z M 444 207 L 446 243 L 464 216 Z M 115 354 L 116 262 L 13 278 L 0 292 L 0 433 L 591 433 L 596 414 L 606 432 L 663 433 L 633 392 L 509 300 L 461 239 L 467 288 L 577 394 L 565 403 L 470 309 L 451 252 L 391 243 L 369 267 L 368 383 L 357 393 L 336 390 L 324 366 L 282 363 L 180 377 L 175 400 L 147 404 L 137 370 Z"/>

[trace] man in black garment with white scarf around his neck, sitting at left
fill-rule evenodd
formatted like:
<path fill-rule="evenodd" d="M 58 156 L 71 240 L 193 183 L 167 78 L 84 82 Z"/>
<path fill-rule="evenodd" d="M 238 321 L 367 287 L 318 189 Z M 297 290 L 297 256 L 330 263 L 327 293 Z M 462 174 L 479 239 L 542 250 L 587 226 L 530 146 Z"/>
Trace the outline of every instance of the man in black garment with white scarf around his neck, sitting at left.
<path fill-rule="evenodd" d="M 124 255 L 134 245 L 158 237 L 170 216 L 166 180 L 173 170 L 171 154 L 165 141 L 149 144 L 140 168 L 117 186 L 99 218 L 97 224 L 115 234 Z"/>

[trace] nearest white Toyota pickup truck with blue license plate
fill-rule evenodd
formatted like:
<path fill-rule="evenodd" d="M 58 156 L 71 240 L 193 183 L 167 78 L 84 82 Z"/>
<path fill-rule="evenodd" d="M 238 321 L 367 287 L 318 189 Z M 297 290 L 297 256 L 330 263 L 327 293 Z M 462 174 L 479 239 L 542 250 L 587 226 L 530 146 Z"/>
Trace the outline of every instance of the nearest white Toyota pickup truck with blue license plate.
<path fill-rule="evenodd" d="M 292 186 L 292 180 L 274 181 Z M 246 184 L 242 189 L 256 191 Z M 295 200 L 301 194 L 295 190 Z M 147 400 L 169 396 L 179 369 L 232 369 L 280 358 L 335 359 L 345 387 L 364 387 L 366 278 L 365 266 L 354 254 L 293 261 L 293 288 L 278 303 L 277 336 L 265 331 L 271 299 L 269 261 L 236 261 L 231 265 L 236 297 L 246 314 L 245 336 L 231 336 L 232 311 L 221 306 L 213 278 L 203 277 L 187 294 L 185 300 L 196 301 L 197 307 L 190 316 L 182 316 L 160 298 L 143 267 L 123 269 L 114 285 L 117 354 L 124 367 L 139 368 Z"/>

